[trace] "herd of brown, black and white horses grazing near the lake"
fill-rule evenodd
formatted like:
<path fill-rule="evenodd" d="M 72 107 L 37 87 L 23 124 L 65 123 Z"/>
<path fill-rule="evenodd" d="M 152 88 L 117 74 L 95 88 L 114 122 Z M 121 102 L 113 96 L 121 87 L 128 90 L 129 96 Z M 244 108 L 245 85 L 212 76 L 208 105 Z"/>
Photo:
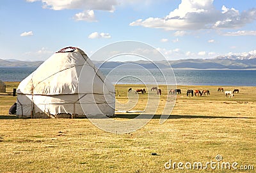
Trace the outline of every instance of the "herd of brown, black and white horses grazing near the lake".
<path fill-rule="evenodd" d="M 157 88 L 157 87 L 152 87 L 150 89 L 151 91 L 157 91 L 157 94 L 161 95 L 162 94 L 162 91 L 161 89 Z M 128 89 L 128 93 L 131 93 L 132 91 L 132 88 L 130 87 Z M 219 87 L 218 88 L 218 92 L 224 92 L 224 88 L 223 87 Z M 141 93 L 141 94 L 144 94 L 146 93 L 146 90 L 145 89 L 136 89 L 135 91 L 136 94 L 138 93 Z M 234 89 L 233 91 L 225 91 L 225 96 L 229 97 L 229 98 L 232 98 L 234 96 L 234 93 L 239 93 L 239 89 Z M 181 94 L 181 89 L 171 89 L 169 91 L 169 94 L 171 95 L 177 95 L 177 94 Z M 207 89 L 204 89 L 202 91 L 198 90 L 198 89 L 195 89 L 195 91 L 193 89 L 188 89 L 187 90 L 187 96 L 210 96 L 210 91 L 207 90 Z"/>

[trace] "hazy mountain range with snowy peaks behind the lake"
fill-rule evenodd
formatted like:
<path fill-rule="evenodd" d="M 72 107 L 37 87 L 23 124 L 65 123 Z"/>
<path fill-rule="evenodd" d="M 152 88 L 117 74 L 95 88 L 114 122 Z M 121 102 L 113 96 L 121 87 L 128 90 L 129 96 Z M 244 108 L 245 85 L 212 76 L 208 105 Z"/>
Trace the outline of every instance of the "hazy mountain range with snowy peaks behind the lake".
<path fill-rule="evenodd" d="M 15 59 L 0 59 L 0 66 L 22 66 L 22 67 L 37 67 L 42 64 L 43 61 L 19 61 Z M 100 68 L 116 68 L 117 66 L 124 65 L 122 68 L 137 68 L 132 64 L 138 64 L 144 68 L 193 68 L 193 69 L 243 69 L 250 70 L 256 69 L 256 55 L 246 54 L 243 56 L 218 56 L 213 59 L 180 59 L 175 61 L 93 61 L 95 66 Z M 168 64 L 170 63 L 170 64 Z"/>

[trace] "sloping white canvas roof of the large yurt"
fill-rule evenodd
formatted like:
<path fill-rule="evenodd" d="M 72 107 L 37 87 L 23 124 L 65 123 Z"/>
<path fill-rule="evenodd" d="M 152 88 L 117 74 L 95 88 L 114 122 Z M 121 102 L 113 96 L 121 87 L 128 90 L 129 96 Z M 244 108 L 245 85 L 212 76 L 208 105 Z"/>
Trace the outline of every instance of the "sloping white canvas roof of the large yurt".
<path fill-rule="evenodd" d="M 83 73 L 83 79 L 80 78 L 81 73 Z M 78 91 L 79 82 L 83 82 L 84 86 Z M 113 85 L 105 81 L 104 75 L 95 68 L 83 50 L 67 47 L 52 54 L 33 73 L 22 80 L 17 93 L 42 95 L 90 93 L 92 83 L 93 93 L 115 92 Z M 105 86 L 104 90 L 102 90 L 102 84 Z"/>

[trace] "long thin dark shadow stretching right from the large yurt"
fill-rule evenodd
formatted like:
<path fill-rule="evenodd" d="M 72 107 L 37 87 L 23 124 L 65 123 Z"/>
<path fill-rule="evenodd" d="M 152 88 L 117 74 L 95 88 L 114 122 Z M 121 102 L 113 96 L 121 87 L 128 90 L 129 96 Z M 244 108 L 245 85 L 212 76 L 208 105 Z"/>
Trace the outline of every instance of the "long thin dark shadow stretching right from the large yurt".
<path fill-rule="evenodd" d="M 135 117 L 137 117 L 138 114 L 117 114 L 116 117 L 119 118 L 126 118 L 126 119 L 134 119 Z M 151 115 L 148 115 L 148 117 L 150 118 Z M 140 117 L 138 117 L 140 119 Z M 141 117 L 144 118 L 144 117 Z M 180 115 L 171 115 L 168 117 L 168 119 L 196 119 L 196 118 L 202 118 L 202 119 L 223 119 L 223 118 L 227 118 L 227 119 L 253 119 L 252 117 L 229 117 L 229 116 L 190 116 L 190 115 L 186 115 L 186 116 L 180 116 Z M 152 119 L 161 119 L 161 115 L 155 115 Z"/>

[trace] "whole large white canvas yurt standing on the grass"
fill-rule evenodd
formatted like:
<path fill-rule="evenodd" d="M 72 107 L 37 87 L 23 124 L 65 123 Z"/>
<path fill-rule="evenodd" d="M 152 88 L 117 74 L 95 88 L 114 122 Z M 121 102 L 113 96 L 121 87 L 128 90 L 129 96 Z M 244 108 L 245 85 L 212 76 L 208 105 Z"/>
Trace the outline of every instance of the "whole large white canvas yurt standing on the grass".
<path fill-rule="evenodd" d="M 20 82 L 16 114 L 25 118 L 113 116 L 115 88 L 83 50 L 66 47 Z"/>

